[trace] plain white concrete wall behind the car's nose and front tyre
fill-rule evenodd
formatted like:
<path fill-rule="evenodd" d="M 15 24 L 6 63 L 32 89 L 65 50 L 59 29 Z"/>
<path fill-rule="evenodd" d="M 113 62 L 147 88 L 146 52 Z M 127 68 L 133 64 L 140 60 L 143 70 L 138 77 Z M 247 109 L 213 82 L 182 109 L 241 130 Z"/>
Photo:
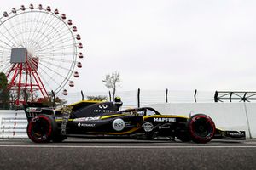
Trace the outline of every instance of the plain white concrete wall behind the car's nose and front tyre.
<path fill-rule="evenodd" d="M 186 103 L 148 105 L 163 115 L 189 116 L 203 113 L 212 117 L 222 130 L 246 131 L 247 139 L 256 138 L 255 103 Z"/>

